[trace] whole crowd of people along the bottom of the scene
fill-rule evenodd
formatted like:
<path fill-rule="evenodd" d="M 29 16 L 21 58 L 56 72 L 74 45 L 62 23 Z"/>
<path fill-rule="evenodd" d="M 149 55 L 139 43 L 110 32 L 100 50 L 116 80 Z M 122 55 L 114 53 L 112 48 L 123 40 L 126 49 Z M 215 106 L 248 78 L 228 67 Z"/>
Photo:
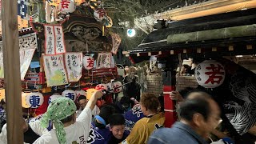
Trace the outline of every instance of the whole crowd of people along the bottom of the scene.
<path fill-rule="evenodd" d="M 218 137 L 215 144 L 234 143 L 227 134 L 215 129 L 221 122 L 221 111 L 210 94 L 192 90 L 186 91 L 186 97 L 184 95 L 178 91 L 170 94 L 171 99 L 180 101 L 178 122 L 171 128 L 164 127 L 162 96 L 142 94 L 139 102 L 135 98 L 123 97 L 118 104 L 109 103 L 100 108 L 96 103 L 102 98 L 102 91 L 96 91 L 90 99 L 80 96 L 79 107 L 70 98 L 57 98 L 50 103 L 45 114 L 29 121 L 22 118 L 24 143 L 206 144 L 210 143 L 207 142 L 210 134 Z M 2 100 L 1 144 L 7 143 L 6 119 L 2 117 L 5 105 Z"/>

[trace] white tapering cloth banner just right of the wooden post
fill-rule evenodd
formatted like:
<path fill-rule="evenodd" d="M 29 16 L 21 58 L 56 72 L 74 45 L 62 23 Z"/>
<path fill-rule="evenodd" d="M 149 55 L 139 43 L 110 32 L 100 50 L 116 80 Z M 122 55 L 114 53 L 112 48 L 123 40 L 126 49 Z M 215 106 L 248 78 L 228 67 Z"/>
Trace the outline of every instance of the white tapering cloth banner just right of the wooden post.
<path fill-rule="evenodd" d="M 19 59 L 20 59 L 21 79 L 22 80 L 24 80 L 24 78 L 26 76 L 26 72 L 30 67 L 30 63 L 34 56 L 34 50 L 35 50 L 35 48 L 19 50 Z"/>

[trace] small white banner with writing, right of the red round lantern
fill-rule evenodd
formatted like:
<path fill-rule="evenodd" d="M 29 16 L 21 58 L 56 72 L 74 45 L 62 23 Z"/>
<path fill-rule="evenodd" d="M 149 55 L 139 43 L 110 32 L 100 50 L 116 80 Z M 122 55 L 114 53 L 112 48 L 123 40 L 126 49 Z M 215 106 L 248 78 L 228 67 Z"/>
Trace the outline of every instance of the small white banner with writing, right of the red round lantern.
<path fill-rule="evenodd" d="M 111 68 L 112 65 L 112 54 L 111 53 L 99 53 L 97 58 L 97 69 Z"/>

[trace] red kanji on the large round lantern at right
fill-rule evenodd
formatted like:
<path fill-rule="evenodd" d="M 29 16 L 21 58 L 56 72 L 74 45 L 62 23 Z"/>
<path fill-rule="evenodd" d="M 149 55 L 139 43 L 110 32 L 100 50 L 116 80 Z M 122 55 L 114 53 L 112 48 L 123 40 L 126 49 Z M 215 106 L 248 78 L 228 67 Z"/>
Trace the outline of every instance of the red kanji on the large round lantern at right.
<path fill-rule="evenodd" d="M 220 83 L 223 79 L 223 76 L 224 76 L 224 72 L 222 72 L 221 70 L 224 70 L 224 68 L 220 65 L 216 66 L 214 64 L 210 64 L 210 67 L 206 67 L 206 70 L 211 70 L 209 72 L 206 72 L 205 74 L 206 75 L 209 75 L 209 78 L 207 79 L 207 81 L 205 82 L 205 84 L 207 83 L 212 83 L 214 84 L 214 82 L 216 83 Z M 221 75 L 218 75 L 217 74 L 221 74 Z"/>

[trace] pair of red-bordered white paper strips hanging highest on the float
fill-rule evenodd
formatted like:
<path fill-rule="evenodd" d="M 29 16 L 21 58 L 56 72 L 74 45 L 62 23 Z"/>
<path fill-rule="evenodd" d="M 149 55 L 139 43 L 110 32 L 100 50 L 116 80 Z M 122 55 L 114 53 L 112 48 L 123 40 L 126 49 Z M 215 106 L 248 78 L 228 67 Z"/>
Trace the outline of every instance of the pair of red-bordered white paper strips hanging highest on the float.
<path fill-rule="evenodd" d="M 45 27 L 45 54 L 65 54 L 64 34 L 62 26 L 44 25 Z"/>

